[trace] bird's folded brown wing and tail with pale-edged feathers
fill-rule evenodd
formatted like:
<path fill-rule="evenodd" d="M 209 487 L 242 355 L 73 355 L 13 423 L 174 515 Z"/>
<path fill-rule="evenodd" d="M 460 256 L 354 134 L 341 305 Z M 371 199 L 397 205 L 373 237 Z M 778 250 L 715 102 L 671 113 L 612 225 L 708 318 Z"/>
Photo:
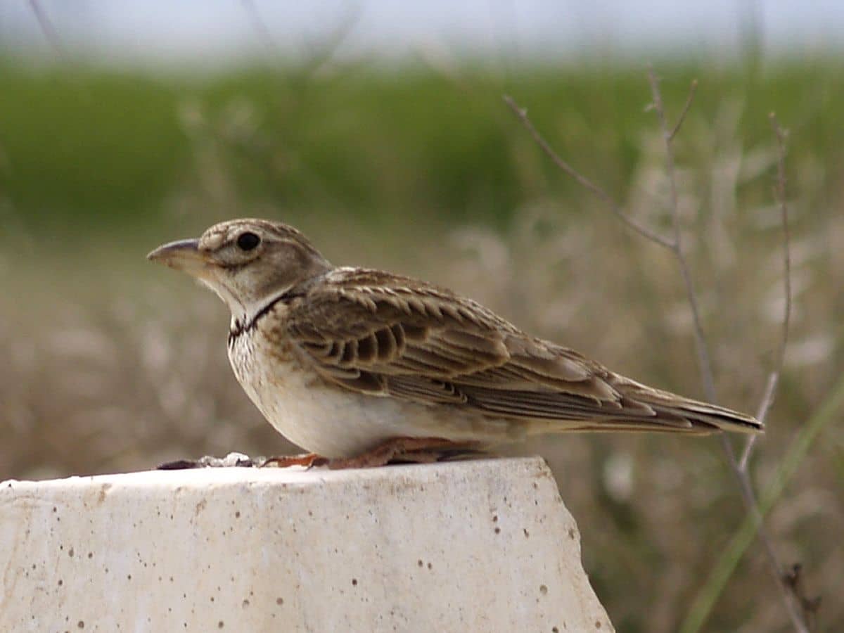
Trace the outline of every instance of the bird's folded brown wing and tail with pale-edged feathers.
<path fill-rule="evenodd" d="M 556 429 L 759 428 L 533 338 L 472 300 L 378 271 L 338 269 L 289 308 L 286 333 L 315 371 L 358 392 L 453 404 Z"/>

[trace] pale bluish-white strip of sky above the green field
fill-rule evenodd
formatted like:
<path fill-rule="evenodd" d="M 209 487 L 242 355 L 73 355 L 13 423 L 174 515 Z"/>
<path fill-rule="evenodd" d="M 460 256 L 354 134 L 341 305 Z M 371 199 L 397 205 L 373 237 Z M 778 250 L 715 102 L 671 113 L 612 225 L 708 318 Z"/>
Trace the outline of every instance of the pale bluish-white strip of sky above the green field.
<path fill-rule="evenodd" d="M 102 62 L 216 64 L 271 48 L 307 55 L 342 29 L 348 33 L 338 54 L 387 59 L 420 49 L 551 59 L 595 50 L 722 55 L 736 51 L 749 30 L 761 36 L 768 53 L 844 48 L 844 0 L 39 0 L 39 5 L 62 46 Z M 45 40 L 29 2 L 0 2 L 0 44 L 49 54 Z"/>

